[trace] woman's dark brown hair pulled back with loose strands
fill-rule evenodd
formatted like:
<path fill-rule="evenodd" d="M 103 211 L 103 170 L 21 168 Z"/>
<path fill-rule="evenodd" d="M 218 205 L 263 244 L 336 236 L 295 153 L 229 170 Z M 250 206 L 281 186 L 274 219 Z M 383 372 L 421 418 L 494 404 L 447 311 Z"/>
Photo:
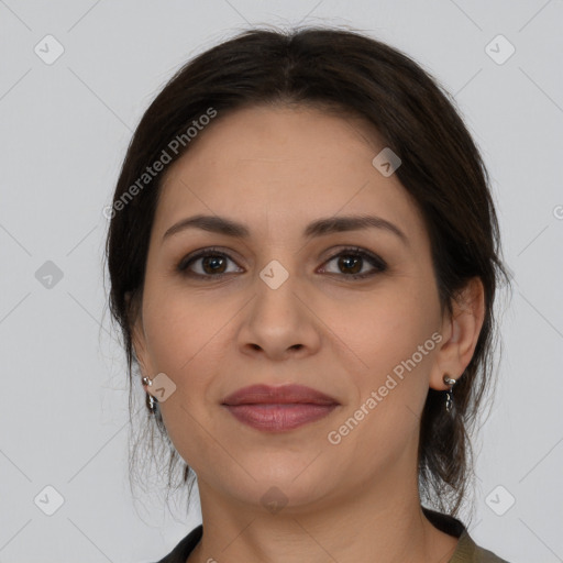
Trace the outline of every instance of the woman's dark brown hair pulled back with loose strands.
<path fill-rule="evenodd" d="M 398 49 L 356 31 L 242 32 L 188 62 L 143 115 L 117 184 L 106 247 L 110 311 L 126 352 L 130 411 L 131 387 L 140 386 L 140 376 L 135 380 L 132 373 L 137 361 L 131 331 L 142 300 L 164 172 L 145 176 L 144 185 L 139 180 L 165 153 L 169 166 L 188 151 L 188 128 L 210 114 L 210 109 L 223 119 L 235 109 L 256 104 L 312 106 L 353 114 L 371 124 L 402 161 L 395 174 L 423 214 L 442 308 L 452 312 L 452 300 L 472 277 L 483 282 L 485 320 L 473 358 L 453 388 L 455 407 L 448 413 L 444 391 L 429 389 L 420 426 L 420 493 L 439 510 L 456 515 L 473 477 L 470 430 L 493 374 L 495 292 L 500 277 L 509 284 L 499 257 L 489 179 L 453 98 L 438 80 Z M 176 142 L 172 151 L 175 139 L 184 142 L 181 146 Z M 132 190 L 134 185 L 137 189 Z M 153 428 L 157 428 L 164 451 L 169 453 L 169 490 L 180 457 L 158 408 L 147 419 L 150 448 L 154 446 Z M 183 483 L 191 490 L 194 473 L 185 463 L 178 486 Z"/>

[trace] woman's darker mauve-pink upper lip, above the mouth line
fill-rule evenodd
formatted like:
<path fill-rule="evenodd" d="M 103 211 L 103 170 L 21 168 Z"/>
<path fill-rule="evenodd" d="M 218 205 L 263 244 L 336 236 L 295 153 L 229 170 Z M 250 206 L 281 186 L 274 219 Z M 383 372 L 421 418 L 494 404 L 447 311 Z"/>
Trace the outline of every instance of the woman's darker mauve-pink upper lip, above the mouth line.
<path fill-rule="evenodd" d="M 306 387 L 303 385 L 251 385 L 229 395 L 223 405 L 263 405 L 263 404 L 295 404 L 309 402 L 314 405 L 338 405 L 339 402 L 328 395 Z"/>

